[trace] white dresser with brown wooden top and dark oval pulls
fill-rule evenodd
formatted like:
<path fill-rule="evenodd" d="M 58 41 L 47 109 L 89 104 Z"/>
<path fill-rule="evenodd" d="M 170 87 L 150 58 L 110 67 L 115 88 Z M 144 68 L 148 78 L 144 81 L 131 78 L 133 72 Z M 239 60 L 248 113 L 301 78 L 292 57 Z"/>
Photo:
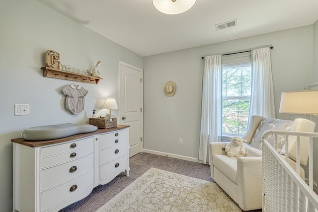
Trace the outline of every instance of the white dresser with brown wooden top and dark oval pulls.
<path fill-rule="evenodd" d="M 50 141 L 13 142 L 13 211 L 58 212 L 129 175 L 129 126 Z"/>

